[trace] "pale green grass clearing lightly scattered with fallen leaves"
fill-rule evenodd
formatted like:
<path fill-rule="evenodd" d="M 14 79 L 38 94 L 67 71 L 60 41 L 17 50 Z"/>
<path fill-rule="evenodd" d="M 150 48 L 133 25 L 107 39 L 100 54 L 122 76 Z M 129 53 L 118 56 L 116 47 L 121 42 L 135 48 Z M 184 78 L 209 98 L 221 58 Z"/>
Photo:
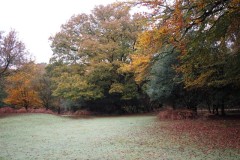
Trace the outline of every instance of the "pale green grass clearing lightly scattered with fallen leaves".
<path fill-rule="evenodd" d="M 0 117 L 1 160 L 239 160 L 232 148 L 204 150 L 173 122 L 155 116 L 70 118 L 48 114 Z M 201 149 L 200 149 L 201 148 Z"/>

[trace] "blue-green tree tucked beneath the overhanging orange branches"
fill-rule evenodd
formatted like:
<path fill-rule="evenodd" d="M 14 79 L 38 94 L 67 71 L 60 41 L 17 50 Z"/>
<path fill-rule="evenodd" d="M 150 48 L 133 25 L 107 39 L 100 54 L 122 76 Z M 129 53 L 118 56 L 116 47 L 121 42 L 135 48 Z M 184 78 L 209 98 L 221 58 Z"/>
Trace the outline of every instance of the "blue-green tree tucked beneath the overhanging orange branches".
<path fill-rule="evenodd" d="M 178 98 L 176 93 L 179 82 L 176 80 L 177 73 L 174 66 L 177 65 L 177 54 L 170 53 L 172 47 L 166 48 L 165 53 L 156 55 L 154 64 L 151 67 L 146 83 L 146 92 L 152 101 L 159 101 L 160 103 L 167 103 L 174 107 L 174 101 Z"/>

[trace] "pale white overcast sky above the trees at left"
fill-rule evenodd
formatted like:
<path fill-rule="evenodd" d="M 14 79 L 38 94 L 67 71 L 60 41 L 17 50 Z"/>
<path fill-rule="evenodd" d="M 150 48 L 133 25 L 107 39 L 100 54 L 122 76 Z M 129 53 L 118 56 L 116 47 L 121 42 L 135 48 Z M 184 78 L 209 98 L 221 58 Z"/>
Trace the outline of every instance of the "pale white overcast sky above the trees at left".
<path fill-rule="evenodd" d="M 48 63 L 52 55 L 48 39 L 60 31 L 62 24 L 74 14 L 91 13 L 94 6 L 115 1 L 0 0 L 0 31 L 14 29 L 36 63 Z"/>

